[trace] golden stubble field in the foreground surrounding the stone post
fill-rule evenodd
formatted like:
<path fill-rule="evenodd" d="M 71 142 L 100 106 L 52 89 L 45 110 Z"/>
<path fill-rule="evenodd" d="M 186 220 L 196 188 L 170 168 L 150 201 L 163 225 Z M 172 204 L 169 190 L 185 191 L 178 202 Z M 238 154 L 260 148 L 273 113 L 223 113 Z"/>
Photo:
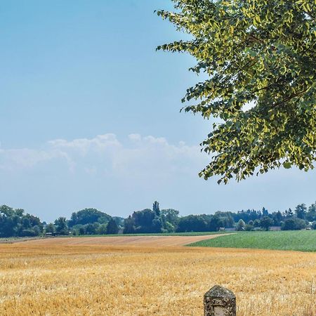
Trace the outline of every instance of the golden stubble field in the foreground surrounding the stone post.
<path fill-rule="evenodd" d="M 316 315 L 316 254 L 87 241 L 0 244 L 0 315 L 203 315 L 214 284 L 237 315 Z"/>

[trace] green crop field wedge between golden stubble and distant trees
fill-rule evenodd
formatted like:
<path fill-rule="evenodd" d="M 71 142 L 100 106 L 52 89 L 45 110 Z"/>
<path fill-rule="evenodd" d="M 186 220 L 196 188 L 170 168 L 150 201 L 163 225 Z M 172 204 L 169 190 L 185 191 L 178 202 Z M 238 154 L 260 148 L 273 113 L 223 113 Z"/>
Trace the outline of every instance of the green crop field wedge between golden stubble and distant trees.
<path fill-rule="evenodd" d="M 316 251 L 316 230 L 237 232 L 188 246 Z"/>

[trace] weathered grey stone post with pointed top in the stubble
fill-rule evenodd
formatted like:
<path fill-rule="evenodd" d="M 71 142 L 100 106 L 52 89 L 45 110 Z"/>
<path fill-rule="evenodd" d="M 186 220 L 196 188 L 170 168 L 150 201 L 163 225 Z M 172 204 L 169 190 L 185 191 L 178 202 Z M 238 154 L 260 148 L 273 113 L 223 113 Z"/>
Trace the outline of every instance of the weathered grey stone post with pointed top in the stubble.
<path fill-rule="evenodd" d="M 204 316 L 236 316 L 236 296 L 216 285 L 204 294 Z"/>

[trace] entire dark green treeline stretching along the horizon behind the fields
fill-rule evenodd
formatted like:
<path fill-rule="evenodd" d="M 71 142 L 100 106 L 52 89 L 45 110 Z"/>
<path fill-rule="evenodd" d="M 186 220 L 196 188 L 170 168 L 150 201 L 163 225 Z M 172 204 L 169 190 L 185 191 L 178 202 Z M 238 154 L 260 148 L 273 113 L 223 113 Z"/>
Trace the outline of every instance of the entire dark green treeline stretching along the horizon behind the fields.
<path fill-rule="evenodd" d="M 83 209 L 72 213 L 69 220 L 57 218 L 53 223 L 41 222 L 37 216 L 23 209 L 0 206 L 0 237 L 30 237 L 39 235 L 115 235 L 160 232 L 214 232 L 218 230 L 301 230 L 316 229 L 316 203 L 309 207 L 299 204 L 294 211 L 269 212 L 242 210 L 218 211 L 215 214 L 179 216 L 175 209 L 160 209 L 154 202 L 152 209 L 135 211 L 128 218 L 110 216 L 97 209 Z"/>

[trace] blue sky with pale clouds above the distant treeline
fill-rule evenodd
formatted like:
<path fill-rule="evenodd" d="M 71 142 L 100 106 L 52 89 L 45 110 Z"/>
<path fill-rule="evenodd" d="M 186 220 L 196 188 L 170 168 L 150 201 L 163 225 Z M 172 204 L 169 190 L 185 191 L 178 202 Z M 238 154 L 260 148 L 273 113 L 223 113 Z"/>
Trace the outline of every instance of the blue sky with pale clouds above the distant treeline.
<path fill-rule="evenodd" d="M 182 215 L 315 202 L 315 171 L 197 176 L 211 124 L 179 110 L 201 78 L 190 56 L 155 51 L 185 36 L 159 8 L 171 1 L 1 1 L 0 204 L 53 220 L 156 199 Z"/>

